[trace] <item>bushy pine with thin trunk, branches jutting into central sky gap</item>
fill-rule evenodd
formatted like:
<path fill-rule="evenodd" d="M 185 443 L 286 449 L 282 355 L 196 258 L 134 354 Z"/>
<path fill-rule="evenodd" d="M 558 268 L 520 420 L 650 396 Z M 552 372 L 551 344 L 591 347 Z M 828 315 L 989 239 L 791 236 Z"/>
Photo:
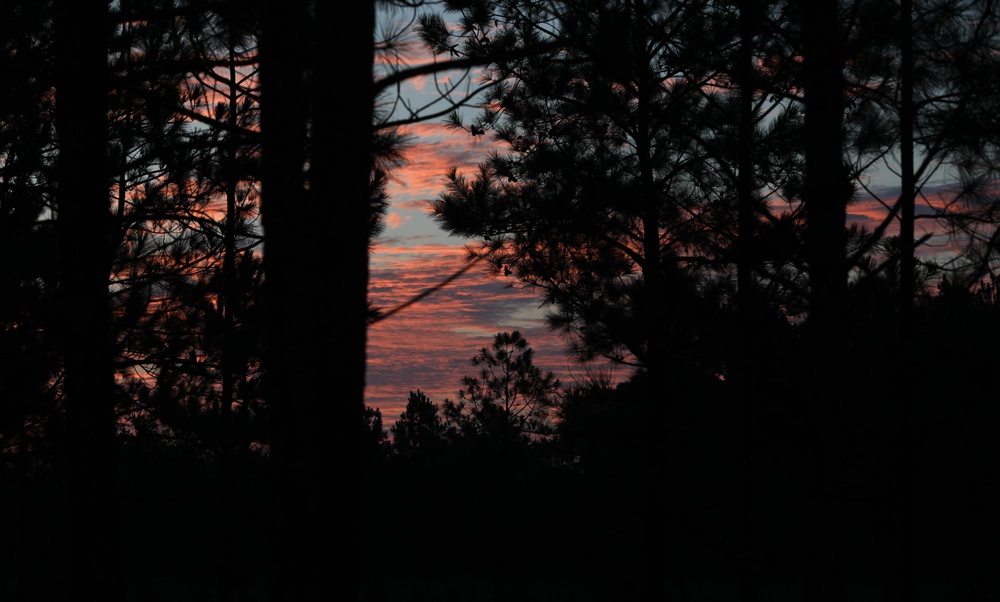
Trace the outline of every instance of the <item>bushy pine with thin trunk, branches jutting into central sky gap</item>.
<path fill-rule="evenodd" d="M 476 253 L 498 273 L 539 289 L 582 357 L 646 372 L 644 586 L 658 597 L 670 499 L 662 429 L 678 380 L 723 370 L 702 329 L 721 323 L 734 230 L 704 125 L 729 110 L 707 89 L 724 34 L 704 34 L 724 29 L 708 25 L 714 8 L 685 3 L 591 8 L 545 4 L 560 54 L 496 66 L 491 77 L 502 85 L 473 126 L 495 131 L 510 151 L 473 181 L 450 173 L 435 215 L 481 238 Z"/>

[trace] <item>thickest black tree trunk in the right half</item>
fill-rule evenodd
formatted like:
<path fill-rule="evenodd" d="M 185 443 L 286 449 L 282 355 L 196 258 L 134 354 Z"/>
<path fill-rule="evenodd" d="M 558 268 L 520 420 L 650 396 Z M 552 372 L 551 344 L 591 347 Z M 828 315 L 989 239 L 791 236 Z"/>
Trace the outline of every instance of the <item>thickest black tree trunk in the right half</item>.
<path fill-rule="evenodd" d="M 844 166 L 844 58 L 837 0 L 800 0 L 805 95 L 803 190 L 809 263 L 809 361 L 812 474 L 808 479 L 811 566 L 807 599 L 840 592 L 838 447 L 843 378 L 842 308 L 847 292 L 845 221 L 852 190 Z"/>

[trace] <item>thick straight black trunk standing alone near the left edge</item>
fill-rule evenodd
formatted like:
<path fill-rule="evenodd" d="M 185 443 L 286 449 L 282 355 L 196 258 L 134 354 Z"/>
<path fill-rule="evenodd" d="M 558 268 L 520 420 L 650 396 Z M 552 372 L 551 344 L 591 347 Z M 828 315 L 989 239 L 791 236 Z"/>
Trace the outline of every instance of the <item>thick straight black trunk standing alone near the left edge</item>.
<path fill-rule="evenodd" d="M 104 0 L 58 0 L 54 8 L 69 598 L 113 601 L 123 592 L 108 295 L 108 8 Z"/>

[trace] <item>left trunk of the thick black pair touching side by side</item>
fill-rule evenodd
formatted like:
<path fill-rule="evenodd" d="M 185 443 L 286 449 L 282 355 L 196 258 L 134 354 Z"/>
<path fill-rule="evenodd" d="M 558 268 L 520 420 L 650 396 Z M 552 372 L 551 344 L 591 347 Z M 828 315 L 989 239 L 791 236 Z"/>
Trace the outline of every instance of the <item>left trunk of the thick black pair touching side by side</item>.
<path fill-rule="evenodd" d="M 269 0 L 262 5 L 261 71 L 261 220 L 264 230 L 265 351 L 263 397 L 272 426 L 274 517 L 271 560 L 272 598 L 310 600 L 316 576 L 308 571 L 306 546 L 312 528 L 306 506 L 309 464 L 305 425 L 314 419 L 304 408 L 313 393 L 308 382 L 317 369 L 307 347 L 313 328 L 307 321 L 296 264 L 303 252 L 305 211 L 303 170 L 306 162 L 305 72 L 308 46 L 304 0 Z M 319 479 L 319 475 L 313 475 Z M 329 544 L 320 550 L 329 549 Z"/>

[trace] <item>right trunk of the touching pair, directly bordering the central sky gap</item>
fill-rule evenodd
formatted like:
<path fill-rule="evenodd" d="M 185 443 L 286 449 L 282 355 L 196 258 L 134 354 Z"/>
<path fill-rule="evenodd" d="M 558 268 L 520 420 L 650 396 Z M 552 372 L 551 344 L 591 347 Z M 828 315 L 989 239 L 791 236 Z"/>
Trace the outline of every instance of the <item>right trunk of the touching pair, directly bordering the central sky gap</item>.
<path fill-rule="evenodd" d="M 337 488 L 322 503 L 339 508 L 330 515 L 334 541 L 343 542 L 345 553 L 338 556 L 335 575 L 343 584 L 344 599 L 356 599 L 361 574 L 361 492 L 362 425 L 364 416 L 365 364 L 368 337 L 368 234 L 371 231 L 372 122 L 375 107 L 372 71 L 375 50 L 375 2 L 354 4 L 349 22 L 331 3 L 318 3 L 317 22 L 323 31 L 336 31 L 333 44 L 323 43 L 316 51 L 315 173 L 311 185 L 317 215 L 312 240 L 316 255 L 330 252 L 331 238 L 324 233 L 340 224 L 332 237 L 333 256 L 338 258 L 342 279 L 340 311 L 330 312 L 323 291 L 329 284 L 313 280 L 316 312 L 329 320 L 325 332 L 337 337 L 340 345 L 329 344 L 331 337 L 316 341 L 333 366 L 336 395 L 328 395 L 316 410 L 328 425 L 327 443 L 321 450 L 323 464 Z M 351 93 L 330 96 L 335 86 L 347 82 Z M 329 393 L 333 393 L 330 391 Z M 331 490 L 327 490 L 331 491 Z"/>

